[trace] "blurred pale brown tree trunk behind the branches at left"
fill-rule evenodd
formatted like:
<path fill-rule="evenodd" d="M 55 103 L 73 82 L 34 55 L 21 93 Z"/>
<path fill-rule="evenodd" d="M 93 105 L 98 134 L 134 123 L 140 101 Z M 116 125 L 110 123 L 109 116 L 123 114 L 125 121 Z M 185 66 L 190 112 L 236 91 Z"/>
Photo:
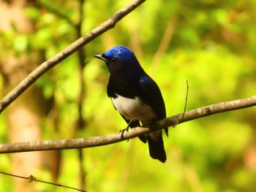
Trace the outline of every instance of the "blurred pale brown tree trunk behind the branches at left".
<path fill-rule="evenodd" d="M 14 37 L 20 34 L 28 37 L 35 31 L 35 23 L 26 17 L 24 9 L 36 4 L 36 1 L 0 1 L 0 23 L 1 33 L 14 32 Z M 10 39 L 8 40 L 10 41 Z M 14 45 L 13 42 L 4 42 L 4 45 Z M 18 45 L 19 46 L 19 45 Z M 3 54 L 4 53 L 4 54 Z M 16 51 L 15 46 L 4 48 L 0 59 L 1 74 L 4 77 L 4 93 L 15 87 L 29 72 L 36 66 L 42 63 L 44 57 L 38 50 Z M 50 111 L 51 103 L 42 96 L 42 90 L 35 86 L 31 86 L 25 91 L 10 107 L 7 108 L 8 119 L 8 136 L 10 142 L 25 142 L 41 140 L 42 134 L 40 123 L 44 120 Z M 54 153 L 54 154 L 50 154 Z M 36 174 L 39 168 L 45 166 L 45 162 L 50 162 L 52 165 L 47 165 L 48 168 L 55 170 L 58 161 L 58 152 L 31 152 L 31 153 L 14 153 L 12 157 L 12 174 L 17 174 L 23 177 L 29 177 Z M 50 155 L 48 158 L 47 155 Z M 54 165 L 54 166 L 53 166 Z M 57 175 L 57 174 L 56 174 Z M 34 183 L 29 183 L 27 180 L 14 178 L 15 191 L 35 191 Z"/>

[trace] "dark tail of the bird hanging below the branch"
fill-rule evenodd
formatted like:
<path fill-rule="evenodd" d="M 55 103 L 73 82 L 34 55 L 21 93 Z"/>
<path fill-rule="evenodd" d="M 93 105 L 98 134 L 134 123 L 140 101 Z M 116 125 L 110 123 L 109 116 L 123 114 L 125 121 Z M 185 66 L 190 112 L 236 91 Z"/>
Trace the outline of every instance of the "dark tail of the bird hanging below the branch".
<path fill-rule="evenodd" d="M 148 147 L 151 158 L 158 159 L 162 163 L 166 161 L 165 147 L 162 140 L 162 130 L 147 134 Z"/>

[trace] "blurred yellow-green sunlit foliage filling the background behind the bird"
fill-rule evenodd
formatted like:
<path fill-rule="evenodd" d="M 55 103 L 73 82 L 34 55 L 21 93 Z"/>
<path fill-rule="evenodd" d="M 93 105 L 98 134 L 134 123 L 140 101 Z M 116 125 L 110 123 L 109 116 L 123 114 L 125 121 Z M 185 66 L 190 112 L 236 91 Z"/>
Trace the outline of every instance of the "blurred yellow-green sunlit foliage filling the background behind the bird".
<path fill-rule="evenodd" d="M 26 9 L 37 22 L 37 33 L 29 37 L 15 37 L 14 31 L 1 34 L 4 46 L 10 49 L 9 45 L 13 45 L 15 53 L 45 50 L 45 57 L 50 58 L 75 41 L 78 4 L 61 2 L 45 0 L 41 9 Z M 86 1 L 82 34 L 127 2 Z M 61 10 L 56 14 L 53 10 L 58 7 Z M 183 111 L 187 80 L 188 110 L 253 96 L 255 12 L 256 3 L 249 0 L 146 1 L 115 28 L 86 45 L 86 126 L 80 131 L 73 130 L 80 89 L 78 55 L 75 53 L 38 80 L 45 97 L 54 98 L 58 106 L 59 139 L 111 134 L 126 126 L 106 95 L 108 71 L 93 58 L 114 45 L 126 45 L 135 51 L 140 64 L 161 88 L 168 116 Z M 158 63 L 152 63 L 159 45 L 165 42 L 167 25 L 174 19 L 170 43 L 162 50 Z M 256 147 L 255 112 L 255 108 L 226 112 L 170 128 L 169 138 L 164 138 L 165 164 L 151 159 L 147 146 L 138 139 L 83 150 L 87 191 L 254 191 L 256 162 L 252 160 L 255 153 L 250 152 Z M 45 127 L 45 138 L 58 139 L 48 134 L 52 125 L 45 123 Z M 3 131 L 0 135 L 3 137 Z M 60 175 L 61 184 L 73 187 L 78 186 L 79 177 L 78 155 L 74 151 L 64 151 Z M 3 183 L 0 186 L 10 188 Z"/>

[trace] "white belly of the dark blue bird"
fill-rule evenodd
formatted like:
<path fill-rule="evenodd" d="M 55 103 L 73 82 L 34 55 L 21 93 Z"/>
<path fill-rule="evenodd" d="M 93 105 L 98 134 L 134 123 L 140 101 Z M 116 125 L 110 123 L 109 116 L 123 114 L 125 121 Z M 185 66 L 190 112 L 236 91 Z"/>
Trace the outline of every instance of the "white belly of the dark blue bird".
<path fill-rule="evenodd" d="M 140 120 L 142 123 L 151 123 L 157 117 L 152 108 L 138 97 L 128 99 L 117 94 L 116 96 L 116 98 L 111 98 L 113 105 L 127 120 Z"/>

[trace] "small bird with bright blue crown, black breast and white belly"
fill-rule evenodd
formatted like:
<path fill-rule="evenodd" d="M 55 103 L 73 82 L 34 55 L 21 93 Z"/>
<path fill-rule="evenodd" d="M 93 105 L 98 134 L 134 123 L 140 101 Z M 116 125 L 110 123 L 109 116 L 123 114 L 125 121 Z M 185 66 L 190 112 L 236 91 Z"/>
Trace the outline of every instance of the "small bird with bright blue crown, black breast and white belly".
<path fill-rule="evenodd" d="M 130 128 L 166 118 L 165 102 L 157 83 L 146 74 L 135 54 L 124 46 L 113 47 L 102 55 L 110 72 L 108 97 Z M 168 129 L 165 133 L 168 135 Z M 151 158 L 166 161 L 162 130 L 139 137 L 147 142 Z"/>

